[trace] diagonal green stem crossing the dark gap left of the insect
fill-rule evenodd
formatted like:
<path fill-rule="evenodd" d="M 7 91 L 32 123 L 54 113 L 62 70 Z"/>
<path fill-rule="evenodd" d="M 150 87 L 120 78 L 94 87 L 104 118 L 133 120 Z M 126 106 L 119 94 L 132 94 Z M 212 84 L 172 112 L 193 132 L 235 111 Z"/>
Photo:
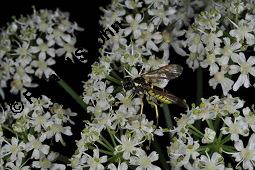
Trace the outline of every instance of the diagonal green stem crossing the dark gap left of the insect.
<path fill-rule="evenodd" d="M 63 80 L 57 82 L 85 111 L 87 105 L 83 102 L 82 98 Z"/>

